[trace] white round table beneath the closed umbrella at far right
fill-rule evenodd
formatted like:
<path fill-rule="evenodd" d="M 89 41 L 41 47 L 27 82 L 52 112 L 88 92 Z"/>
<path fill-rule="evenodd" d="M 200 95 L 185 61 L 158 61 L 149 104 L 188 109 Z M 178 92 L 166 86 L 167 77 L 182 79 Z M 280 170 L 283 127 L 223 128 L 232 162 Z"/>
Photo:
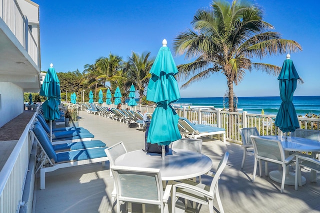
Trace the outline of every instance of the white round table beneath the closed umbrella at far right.
<path fill-rule="evenodd" d="M 320 151 L 320 142 L 310 140 L 307 138 L 298 138 L 298 137 L 287 137 L 284 136 L 260 136 L 264 139 L 280 140 L 284 151 L 293 151 L 293 152 L 312 152 L 312 157 L 315 157 L 314 152 Z M 269 172 L 269 177 L 271 180 L 281 183 L 282 181 L 282 172 L 275 170 Z M 295 173 L 286 172 L 284 184 L 294 186 Z M 302 184 L 305 184 L 305 178 L 301 176 Z M 316 182 L 316 173 L 311 171 L 311 182 Z"/>

